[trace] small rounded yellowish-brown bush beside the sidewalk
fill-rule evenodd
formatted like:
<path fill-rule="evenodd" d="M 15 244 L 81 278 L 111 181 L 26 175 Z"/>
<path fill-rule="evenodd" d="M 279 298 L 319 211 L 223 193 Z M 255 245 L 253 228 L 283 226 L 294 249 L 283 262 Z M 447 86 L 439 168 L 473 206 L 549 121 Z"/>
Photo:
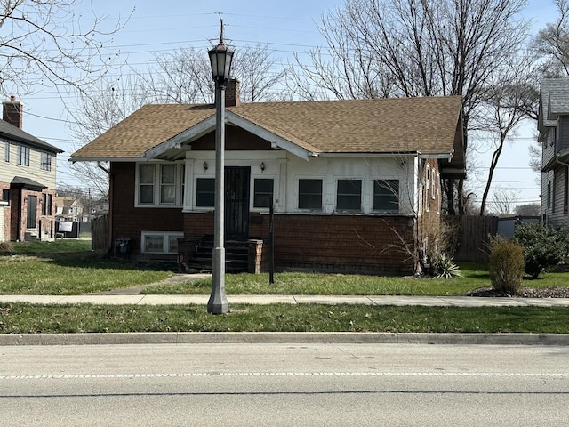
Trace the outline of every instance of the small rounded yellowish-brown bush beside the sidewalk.
<path fill-rule="evenodd" d="M 501 294 L 517 294 L 524 277 L 524 249 L 503 238 L 495 238 L 490 246 L 488 270 L 493 288 Z"/>

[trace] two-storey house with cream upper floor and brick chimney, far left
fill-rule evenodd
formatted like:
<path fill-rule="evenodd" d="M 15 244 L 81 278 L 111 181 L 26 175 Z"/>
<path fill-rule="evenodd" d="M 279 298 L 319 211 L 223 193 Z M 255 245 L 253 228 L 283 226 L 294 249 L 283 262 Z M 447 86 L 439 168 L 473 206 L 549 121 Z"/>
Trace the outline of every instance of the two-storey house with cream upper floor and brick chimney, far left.
<path fill-rule="evenodd" d="M 61 149 L 24 132 L 22 103 L 3 102 L 0 120 L 0 241 L 54 236 L 56 157 Z"/>

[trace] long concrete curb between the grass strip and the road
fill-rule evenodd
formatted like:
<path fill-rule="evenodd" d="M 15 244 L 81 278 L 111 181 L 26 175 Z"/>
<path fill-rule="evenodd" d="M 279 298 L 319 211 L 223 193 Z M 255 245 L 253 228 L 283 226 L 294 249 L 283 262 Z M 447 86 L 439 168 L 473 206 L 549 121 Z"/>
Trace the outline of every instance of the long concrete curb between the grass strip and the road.
<path fill-rule="evenodd" d="M 149 332 L 108 334 L 0 334 L 0 346 L 205 343 L 361 343 L 566 346 L 569 345 L 569 334 L 390 334 L 353 332 Z"/>

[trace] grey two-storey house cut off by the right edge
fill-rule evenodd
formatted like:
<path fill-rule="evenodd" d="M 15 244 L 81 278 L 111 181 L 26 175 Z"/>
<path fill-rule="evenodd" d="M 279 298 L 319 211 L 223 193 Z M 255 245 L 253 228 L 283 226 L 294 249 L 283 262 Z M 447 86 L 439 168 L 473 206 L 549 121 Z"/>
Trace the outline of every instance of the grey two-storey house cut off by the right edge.
<path fill-rule="evenodd" d="M 569 78 L 541 81 L 541 215 L 559 226 L 569 220 Z"/>

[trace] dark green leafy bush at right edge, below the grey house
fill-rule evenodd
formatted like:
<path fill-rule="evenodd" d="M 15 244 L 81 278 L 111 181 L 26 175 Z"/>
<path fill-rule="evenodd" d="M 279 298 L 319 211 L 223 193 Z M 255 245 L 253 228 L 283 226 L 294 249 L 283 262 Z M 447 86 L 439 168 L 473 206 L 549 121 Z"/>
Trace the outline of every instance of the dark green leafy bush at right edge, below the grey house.
<path fill-rule="evenodd" d="M 539 278 L 548 267 L 565 262 L 569 254 L 569 229 L 554 229 L 542 222 L 518 224 L 514 239 L 524 248 L 525 272 Z"/>

